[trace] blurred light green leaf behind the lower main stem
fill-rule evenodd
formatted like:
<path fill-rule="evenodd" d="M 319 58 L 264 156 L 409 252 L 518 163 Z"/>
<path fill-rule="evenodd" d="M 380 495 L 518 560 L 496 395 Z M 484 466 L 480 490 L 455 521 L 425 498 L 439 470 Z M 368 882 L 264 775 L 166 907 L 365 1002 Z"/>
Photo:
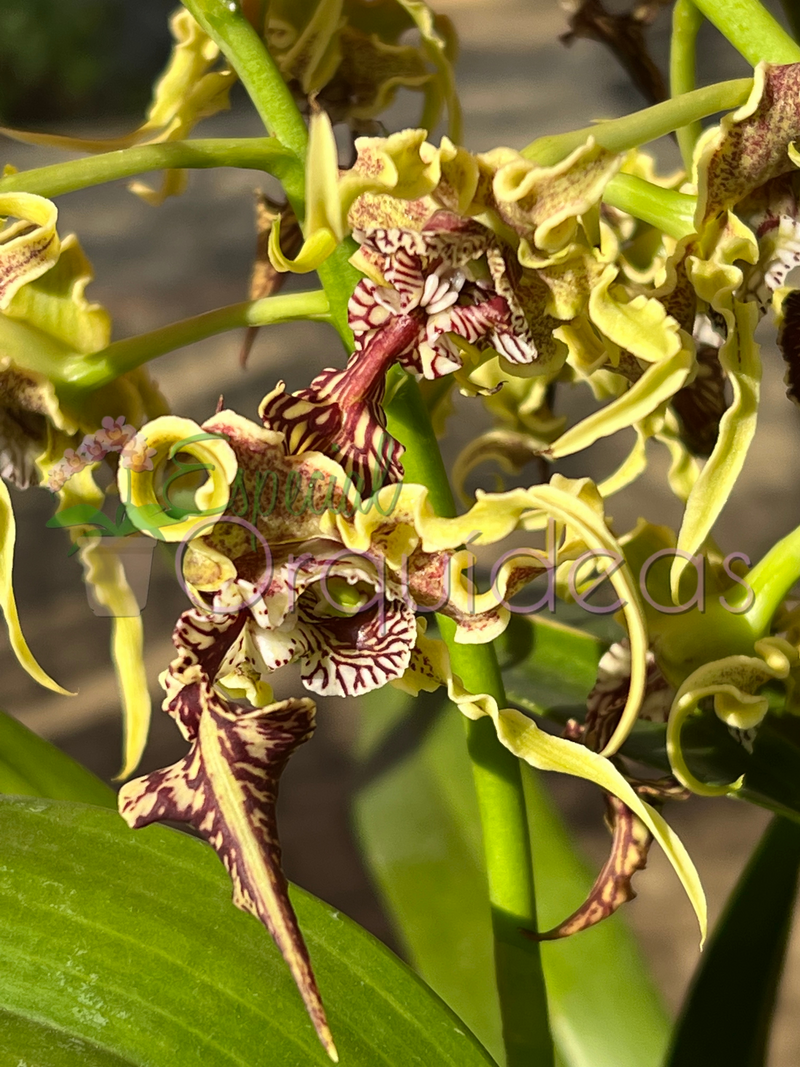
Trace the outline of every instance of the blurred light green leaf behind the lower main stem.
<path fill-rule="evenodd" d="M 555 673 L 547 684 L 556 686 Z M 567 674 L 561 696 L 556 688 L 551 696 L 569 703 L 580 684 Z M 370 870 L 413 965 L 501 1062 L 480 823 L 461 717 L 437 695 L 411 700 L 388 689 L 364 700 L 363 711 L 355 817 Z M 524 773 L 538 909 L 547 928 L 581 902 L 592 875 L 539 779 Z M 543 944 L 542 955 L 566 1067 L 660 1065 L 669 1023 L 620 917 Z"/>

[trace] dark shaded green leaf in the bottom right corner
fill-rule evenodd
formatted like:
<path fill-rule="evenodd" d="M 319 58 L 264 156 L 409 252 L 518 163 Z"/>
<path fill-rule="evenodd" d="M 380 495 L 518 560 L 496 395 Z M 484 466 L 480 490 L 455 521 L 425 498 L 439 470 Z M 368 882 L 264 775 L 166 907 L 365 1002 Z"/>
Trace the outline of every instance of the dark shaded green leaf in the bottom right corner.
<path fill-rule="evenodd" d="M 773 819 L 703 954 L 667 1067 L 763 1067 L 786 952 L 800 827 Z"/>

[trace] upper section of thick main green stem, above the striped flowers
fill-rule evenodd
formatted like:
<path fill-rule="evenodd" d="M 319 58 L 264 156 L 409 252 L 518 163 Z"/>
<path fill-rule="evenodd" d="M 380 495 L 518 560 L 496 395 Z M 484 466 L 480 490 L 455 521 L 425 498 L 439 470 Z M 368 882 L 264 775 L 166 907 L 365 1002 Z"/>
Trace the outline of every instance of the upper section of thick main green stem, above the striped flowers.
<path fill-rule="evenodd" d="M 238 4 L 235 3 L 231 11 L 223 0 L 186 0 L 186 6 L 220 46 L 269 132 L 305 162 L 308 130 L 303 116 L 266 45 Z M 299 190 L 286 185 L 284 188 L 302 223 L 305 219 L 305 191 L 301 195 Z M 317 270 L 329 297 L 331 322 L 348 351 L 353 348 L 353 334 L 348 324 L 347 305 L 362 277 L 349 261 L 355 250 L 355 242 L 348 238 Z"/>

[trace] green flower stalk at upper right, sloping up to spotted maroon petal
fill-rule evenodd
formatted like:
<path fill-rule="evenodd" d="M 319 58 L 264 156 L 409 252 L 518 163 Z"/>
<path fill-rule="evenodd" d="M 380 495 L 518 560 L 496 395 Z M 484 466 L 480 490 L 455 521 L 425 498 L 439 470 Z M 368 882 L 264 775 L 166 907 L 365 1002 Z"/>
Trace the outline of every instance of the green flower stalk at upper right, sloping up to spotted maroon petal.
<path fill-rule="evenodd" d="M 684 96 L 665 100 L 663 103 L 623 115 L 622 118 L 611 118 L 569 133 L 539 138 L 523 148 L 522 155 L 541 166 L 551 166 L 586 144 L 589 137 L 593 137 L 597 144 L 609 152 L 627 152 L 681 129 L 698 118 L 738 108 L 747 100 L 752 87 L 752 78 L 720 81 L 716 85 L 695 89 Z"/>

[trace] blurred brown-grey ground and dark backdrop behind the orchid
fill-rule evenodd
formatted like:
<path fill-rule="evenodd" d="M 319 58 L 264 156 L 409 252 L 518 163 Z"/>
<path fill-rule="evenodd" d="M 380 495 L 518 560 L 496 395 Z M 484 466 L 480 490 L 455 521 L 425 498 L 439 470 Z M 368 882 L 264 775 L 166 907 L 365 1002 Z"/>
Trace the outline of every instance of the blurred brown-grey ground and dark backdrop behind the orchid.
<path fill-rule="evenodd" d="M 465 143 L 474 150 L 503 144 L 522 147 L 540 134 L 613 117 L 647 102 L 601 45 L 578 39 L 567 48 L 559 42 L 567 16 L 556 0 L 438 0 L 434 6 L 451 16 L 461 37 L 458 74 Z M 149 99 L 151 80 L 169 54 L 166 16 L 172 9 L 170 0 L 70 0 L 67 4 L 3 0 L 0 121 L 98 137 L 134 127 Z M 658 17 L 650 36 L 653 54 L 663 69 L 669 11 Z M 701 84 L 748 74 L 746 63 L 710 27 L 704 27 L 701 34 L 699 55 Z M 233 94 L 233 105 L 228 114 L 204 123 L 197 136 L 260 133 L 241 92 Z M 417 107 L 412 94 L 398 99 L 386 117 L 387 127 L 415 123 Z M 665 168 L 677 164 L 671 142 L 655 150 Z M 20 169 L 62 158 L 52 149 L 2 143 L 2 162 Z M 270 188 L 269 181 L 260 184 Z M 195 172 L 183 196 L 157 209 L 131 195 L 122 182 L 59 201 L 60 233 L 79 235 L 97 274 L 90 296 L 111 312 L 116 337 L 246 298 L 257 185 L 253 172 Z M 306 284 L 303 280 L 289 283 L 297 288 Z M 769 343 L 773 331 L 763 332 L 765 383 L 758 433 L 745 476 L 718 527 L 726 552 L 745 552 L 753 559 L 800 522 L 794 472 L 800 455 L 800 419 L 784 397 L 781 361 Z M 153 371 L 173 408 L 203 420 L 224 394 L 227 405 L 255 417 L 259 399 L 277 379 L 284 378 L 290 389 L 298 388 L 324 366 L 341 361 L 335 336 L 321 325 L 262 330 L 246 370 L 238 363 L 241 343 L 241 336 L 223 335 L 156 361 Z M 579 411 L 585 398 L 576 394 L 566 403 Z M 468 417 L 450 423 L 446 443 L 450 458 L 460 444 L 487 426 L 477 402 L 461 398 L 459 411 Z M 603 477 L 628 444 L 623 439 L 603 443 L 592 449 L 591 460 L 574 457 L 560 469 Z M 618 529 L 628 528 L 639 515 L 656 523 L 677 523 L 679 511 L 662 489 L 665 471 L 656 459 L 645 479 L 624 497 L 614 498 L 610 511 Z M 15 492 L 14 504 L 19 526 L 15 587 L 22 625 L 43 666 L 63 685 L 78 690 L 78 696 L 54 697 L 37 688 L 16 665 L 3 637 L 4 706 L 110 780 L 119 767 L 121 729 L 108 655 L 108 620 L 92 614 L 79 564 L 67 557 L 65 535 L 46 528 L 52 510 L 49 494 Z M 156 707 L 160 703 L 157 675 L 172 657 L 172 626 L 186 606 L 172 559 L 158 545 L 144 610 L 146 662 Z M 298 689 L 291 674 L 277 681 L 278 696 Z M 282 787 L 287 873 L 394 945 L 351 830 L 357 710 L 347 701 L 321 701 L 318 721 L 314 742 L 292 760 Z M 156 711 L 142 770 L 163 766 L 183 750 L 172 721 Z M 599 865 L 608 844 L 599 798 L 572 780 L 549 784 L 587 855 Z M 700 799 L 672 806 L 668 816 L 698 863 L 714 920 L 768 816 L 734 800 Z M 698 960 L 694 920 L 656 849 L 636 887 L 638 899 L 624 909 L 624 919 L 618 915 L 612 921 L 627 921 L 635 927 L 674 1010 Z M 800 1063 L 799 1012 L 800 937 L 796 936 L 781 991 L 772 1067 Z"/>

